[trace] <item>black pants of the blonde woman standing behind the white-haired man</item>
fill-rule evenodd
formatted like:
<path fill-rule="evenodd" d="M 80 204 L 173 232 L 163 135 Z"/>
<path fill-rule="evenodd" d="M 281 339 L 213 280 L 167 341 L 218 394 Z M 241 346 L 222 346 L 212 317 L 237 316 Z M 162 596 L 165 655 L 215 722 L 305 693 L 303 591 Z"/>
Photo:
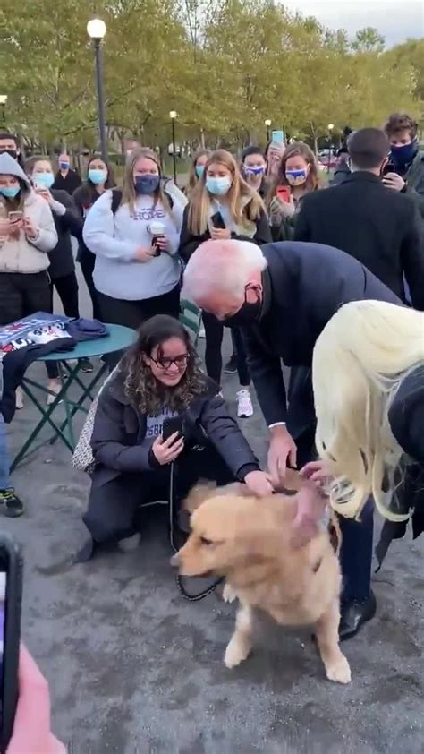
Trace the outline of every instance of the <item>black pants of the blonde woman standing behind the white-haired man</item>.
<path fill-rule="evenodd" d="M 223 358 L 221 347 L 224 337 L 224 325 L 216 319 L 215 314 L 208 312 L 202 313 L 203 324 L 205 326 L 206 348 L 205 364 L 208 376 L 221 384 L 221 373 L 223 369 Z M 240 384 L 245 387 L 250 385 L 250 373 L 247 365 L 246 350 L 242 339 L 242 333 L 238 328 L 232 329 L 233 343 L 235 344 L 235 357 L 237 364 L 237 373 Z"/>

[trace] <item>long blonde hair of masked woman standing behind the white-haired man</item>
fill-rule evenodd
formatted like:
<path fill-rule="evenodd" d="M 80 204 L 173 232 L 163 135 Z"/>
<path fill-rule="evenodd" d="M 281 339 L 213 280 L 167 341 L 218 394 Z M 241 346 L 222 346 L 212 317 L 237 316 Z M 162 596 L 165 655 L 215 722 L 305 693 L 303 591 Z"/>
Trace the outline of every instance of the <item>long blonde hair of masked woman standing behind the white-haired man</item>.
<path fill-rule="evenodd" d="M 199 178 L 191 196 L 188 227 L 193 236 L 202 236 L 208 229 L 210 204 L 213 197 L 206 187 L 206 177 L 208 167 L 213 164 L 224 165 L 230 170 L 233 177 L 233 183 L 227 196 L 230 200 L 228 209 L 236 224 L 242 223 L 243 219 L 255 222 L 259 218 L 260 212 L 265 210 L 259 193 L 242 178 L 233 155 L 226 150 L 216 150 L 210 155 L 203 176 Z"/>

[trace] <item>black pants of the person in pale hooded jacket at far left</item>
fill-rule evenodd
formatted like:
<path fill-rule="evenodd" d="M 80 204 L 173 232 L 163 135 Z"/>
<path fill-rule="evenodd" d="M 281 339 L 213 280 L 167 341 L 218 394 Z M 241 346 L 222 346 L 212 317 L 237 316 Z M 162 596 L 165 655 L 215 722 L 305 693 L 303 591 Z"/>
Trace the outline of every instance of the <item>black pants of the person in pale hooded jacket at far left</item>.
<path fill-rule="evenodd" d="M 29 274 L 0 272 L 0 325 L 8 325 L 36 312 L 53 312 L 47 271 Z M 57 364 L 47 362 L 46 367 L 48 377 L 55 379 L 58 376 Z"/>

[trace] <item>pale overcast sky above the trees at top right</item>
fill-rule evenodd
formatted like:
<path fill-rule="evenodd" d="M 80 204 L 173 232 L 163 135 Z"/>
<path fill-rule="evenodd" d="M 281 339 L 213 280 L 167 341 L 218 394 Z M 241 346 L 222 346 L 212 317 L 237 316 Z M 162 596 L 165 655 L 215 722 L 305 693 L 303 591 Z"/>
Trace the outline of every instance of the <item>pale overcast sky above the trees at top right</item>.
<path fill-rule="evenodd" d="M 313 15 L 330 29 L 345 29 L 349 36 L 374 26 L 387 47 L 408 37 L 424 37 L 424 0 L 282 0 L 290 11 Z"/>

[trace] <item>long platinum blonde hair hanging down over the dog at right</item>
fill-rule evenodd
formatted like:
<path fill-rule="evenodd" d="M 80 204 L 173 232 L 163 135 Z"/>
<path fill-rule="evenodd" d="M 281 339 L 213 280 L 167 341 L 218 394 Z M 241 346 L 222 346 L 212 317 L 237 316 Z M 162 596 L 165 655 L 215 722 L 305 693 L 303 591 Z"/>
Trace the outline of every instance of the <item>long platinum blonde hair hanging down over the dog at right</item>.
<path fill-rule="evenodd" d="M 388 408 L 405 375 L 424 364 L 424 313 L 382 301 L 345 304 L 314 348 L 312 380 L 316 446 L 330 468 L 332 507 L 358 518 L 372 494 L 388 510 L 403 450 L 391 432 Z"/>

